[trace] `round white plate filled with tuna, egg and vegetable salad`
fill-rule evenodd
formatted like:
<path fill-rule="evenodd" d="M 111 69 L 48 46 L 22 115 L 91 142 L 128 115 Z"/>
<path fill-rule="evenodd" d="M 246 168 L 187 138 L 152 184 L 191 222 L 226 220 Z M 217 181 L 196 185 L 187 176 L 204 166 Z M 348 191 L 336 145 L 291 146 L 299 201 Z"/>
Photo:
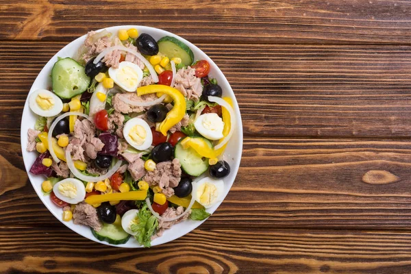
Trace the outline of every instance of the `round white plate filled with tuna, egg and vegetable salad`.
<path fill-rule="evenodd" d="M 201 224 L 234 182 L 240 112 L 221 71 L 160 29 L 110 27 L 64 47 L 27 97 L 23 158 L 75 232 L 151 247 Z"/>

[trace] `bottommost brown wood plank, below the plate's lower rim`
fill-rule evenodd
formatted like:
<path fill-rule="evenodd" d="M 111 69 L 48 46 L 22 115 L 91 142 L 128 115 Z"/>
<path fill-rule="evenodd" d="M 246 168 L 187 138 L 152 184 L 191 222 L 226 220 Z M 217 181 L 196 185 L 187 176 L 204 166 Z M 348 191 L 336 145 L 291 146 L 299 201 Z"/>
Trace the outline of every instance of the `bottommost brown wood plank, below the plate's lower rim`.
<path fill-rule="evenodd" d="M 1 227 L 2 273 L 409 273 L 409 233 L 196 229 L 119 249 L 66 227 Z"/>

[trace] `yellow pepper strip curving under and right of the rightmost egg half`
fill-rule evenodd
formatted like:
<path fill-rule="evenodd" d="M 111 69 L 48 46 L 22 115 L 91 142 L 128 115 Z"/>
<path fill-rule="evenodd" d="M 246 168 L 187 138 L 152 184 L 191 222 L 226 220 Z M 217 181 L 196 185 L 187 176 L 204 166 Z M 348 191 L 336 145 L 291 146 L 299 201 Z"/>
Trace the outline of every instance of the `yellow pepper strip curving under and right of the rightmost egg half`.
<path fill-rule="evenodd" d="M 230 105 L 233 105 L 232 99 L 229 99 L 229 97 L 224 97 L 224 101 L 227 101 Z M 229 133 L 229 130 L 231 129 L 231 120 L 229 116 L 229 112 L 225 108 L 221 108 L 221 112 L 223 114 L 223 122 L 224 122 L 224 128 L 223 128 L 223 136 L 227 136 Z M 223 138 L 224 138 L 223 137 Z M 221 140 L 223 140 L 223 138 Z M 220 142 L 221 142 L 220 140 Z M 206 157 L 206 158 L 216 158 L 217 156 L 221 155 L 221 153 L 224 152 L 225 147 L 227 147 L 227 144 L 223 145 L 220 149 L 212 149 L 206 141 L 204 141 L 202 138 L 190 138 L 186 137 L 184 140 L 182 140 L 182 146 L 186 149 L 188 147 L 191 147 L 199 155 Z"/>

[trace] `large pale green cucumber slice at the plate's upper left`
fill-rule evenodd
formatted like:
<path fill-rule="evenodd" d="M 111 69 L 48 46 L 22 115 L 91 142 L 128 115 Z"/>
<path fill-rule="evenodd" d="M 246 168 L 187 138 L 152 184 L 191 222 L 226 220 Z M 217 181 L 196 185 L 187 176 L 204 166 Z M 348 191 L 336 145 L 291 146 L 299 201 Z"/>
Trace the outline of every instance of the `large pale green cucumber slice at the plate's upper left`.
<path fill-rule="evenodd" d="M 51 69 L 53 91 L 62 99 L 70 99 L 82 94 L 90 84 L 90 77 L 84 71 L 84 66 L 71 58 L 60 59 Z"/>

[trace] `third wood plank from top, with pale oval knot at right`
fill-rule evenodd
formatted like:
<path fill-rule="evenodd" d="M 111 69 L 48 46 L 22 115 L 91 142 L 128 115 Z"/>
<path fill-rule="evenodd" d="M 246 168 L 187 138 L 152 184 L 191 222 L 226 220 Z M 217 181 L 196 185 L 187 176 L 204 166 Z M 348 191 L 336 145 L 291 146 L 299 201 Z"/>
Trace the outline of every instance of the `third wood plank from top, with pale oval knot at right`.
<path fill-rule="evenodd" d="M 13 163 L 1 173 L 23 169 L 17 142 L 0 136 Z M 201 227 L 408 229 L 410 147 L 408 139 L 245 138 L 236 182 Z M 8 185 L 0 184 L 2 225 L 60 225 L 29 182 Z"/>

